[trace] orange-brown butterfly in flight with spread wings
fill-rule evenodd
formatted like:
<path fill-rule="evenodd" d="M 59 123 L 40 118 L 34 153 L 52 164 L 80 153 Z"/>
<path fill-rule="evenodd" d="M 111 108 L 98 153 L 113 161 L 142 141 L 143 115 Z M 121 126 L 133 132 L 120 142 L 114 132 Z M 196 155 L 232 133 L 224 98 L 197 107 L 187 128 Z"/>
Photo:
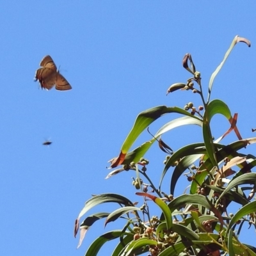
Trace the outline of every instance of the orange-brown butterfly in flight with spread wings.
<path fill-rule="evenodd" d="M 47 55 L 40 62 L 42 68 L 36 70 L 35 81 L 39 81 L 42 89 L 51 90 L 55 85 L 56 90 L 66 91 L 72 89 L 68 81 L 57 70 L 51 56 Z"/>

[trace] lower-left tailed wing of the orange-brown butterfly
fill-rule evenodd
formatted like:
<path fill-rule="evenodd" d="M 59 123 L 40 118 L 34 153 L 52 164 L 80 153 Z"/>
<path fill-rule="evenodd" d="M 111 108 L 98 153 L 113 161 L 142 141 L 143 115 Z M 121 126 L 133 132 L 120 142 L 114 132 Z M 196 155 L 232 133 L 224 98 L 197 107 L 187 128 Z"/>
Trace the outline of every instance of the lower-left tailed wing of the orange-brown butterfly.
<path fill-rule="evenodd" d="M 58 72 L 52 68 L 38 68 L 36 70 L 35 81 L 39 81 L 41 88 L 50 90 L 57 81 Z"/>

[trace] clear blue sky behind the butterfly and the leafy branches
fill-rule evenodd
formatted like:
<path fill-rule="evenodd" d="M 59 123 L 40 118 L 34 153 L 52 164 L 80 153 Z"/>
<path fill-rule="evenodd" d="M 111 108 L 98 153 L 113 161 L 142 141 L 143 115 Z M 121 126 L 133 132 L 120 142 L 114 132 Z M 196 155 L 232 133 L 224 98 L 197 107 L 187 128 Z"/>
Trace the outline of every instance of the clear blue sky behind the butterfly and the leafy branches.
<path fill-rule="evenodd" d="M 243 138 L 254 136 L 255 8 L 254 1 L 3 1 L 0 254 L 84 255 L 97 236 L 117 227 L 109 223 L 104 229 L 103 221 L 97 223 L 76 250 L 74 220 L 92 194 L 121 193 L 136 200 L 134 173 L 104 177 L 107 161 L 119 154 L 138 113 L 159 105 L 183 107 L 189 101 L 200 105 L 190 92 L 166 96 L 170 84 L 190 77 L 181 65 L 187 52 L 207 92 L 209 77 L 234 36 L 251 40 L 251 48 L 236 45 L 216 78 L 212 99 L 224 100 L 239 114 Z M 33 82 L 47 54 L 71 91 L 47 92 Z M 164 116 L 150 131 L 170 118 Z M 216 138 L 229 126 L 221 117 L 212 125 Z M 42 145 L 47 139 L 53 141 L 50 147 Z M 136 145 L 149 139 L 145 133 Z M 163 139 L 177 150 L 202 141 L 202 135 L 198 127 L 189 132 L 182 127 Z M 223 143 L 234 140 L 230 134 Z M 252 145 L 247 152 L 253 150 Z M 148 172 L 158 183 L 165 155 L 155 145 L 147 157 Z M 166 186 L 168 179 L 170 174 Z M 98 210 L 115 209 L 111 207 Z M 244 231 L 242 241 L 254 243 L 253 228 Z M 110 252 L 105 246 L 99 255 Z"/>

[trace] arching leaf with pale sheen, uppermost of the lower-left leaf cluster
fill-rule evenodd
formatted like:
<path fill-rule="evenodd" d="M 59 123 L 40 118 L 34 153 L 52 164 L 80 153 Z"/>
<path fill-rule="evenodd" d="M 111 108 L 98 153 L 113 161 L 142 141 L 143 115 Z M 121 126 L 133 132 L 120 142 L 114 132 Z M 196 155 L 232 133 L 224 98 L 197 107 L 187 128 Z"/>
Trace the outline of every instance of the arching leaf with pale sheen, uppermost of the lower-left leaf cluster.
<path fill-rule="evenodd" d="M 81 216 L 83 216 L 87 211 L 95 207 L 99 204 L 105 204 L 105 203 L 117 203 L 117 204 L 123 204 L 123 205 L 133 205 L 132 202 L 127 199 L 126 197 L 118 194 L 113 193 L 106 193 L 101 194 L 97 196 L 93 196 L 88 201 L 86 201 L 82 211 L 79 213 L 79 216 L 77 219 L 80 219 Z"/>

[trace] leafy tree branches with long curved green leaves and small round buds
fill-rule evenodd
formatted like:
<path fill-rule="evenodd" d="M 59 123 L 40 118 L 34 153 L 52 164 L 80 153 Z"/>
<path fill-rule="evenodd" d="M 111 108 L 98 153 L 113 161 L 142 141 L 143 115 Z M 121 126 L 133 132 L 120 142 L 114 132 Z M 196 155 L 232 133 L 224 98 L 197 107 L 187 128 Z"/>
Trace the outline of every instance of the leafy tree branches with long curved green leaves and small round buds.
<path fill-rule="evenodd" d="M 214 79 L 228 58 L 233 47 L 244 42 L 250 47 L 246 38 L 236 36 L 232 41 L 223 61 L 212 73 L 209 81 L 207 97 L 202 92 L 201 74 L 196 70 L 191 54 L 186 54 L 182 65 L 192 75 L 186 83 L 175 83 L 167 93 L 177 90 L 191 91 L 200 95 L 202 105 L 195 108 L 188 102 L 184 108 L 156 106 L 141 112 L 125 139 L 118 157 L 111 159 L 113 170 L 108 177 L 134 170 L 136 179 L 132 182 L 143 205 L 118 194 L 101 194 L 90 198 L 79 213 L 75 225 L 75 236 L 79 232 L 79 245 L 83 242 L 88 229 L 95 221 L 104 219 L 105 225 L 122 218 L 125 225 L 119 230 L 112 230 L 99 236 L 89 246 L 86 256 L 98 255 L 103 244 L 115 239 L 116 248 L 113 256 L 145 254 L 152 256 L 164 255 L 256 255 L 256 247 L 239 241 L 239 234 L 244 223 L 255 227 L 255 194 L 256 173 L 252 168 L 256 165 L 256 157 L 241 154 L 239 150 L 256 142 L 256 138 L 243 139 L 237 128 L 237 114 L 232 116 L 225 102 L 211 99 Z M 179 118 L 172 118 L 173 113 Z M 230 128 L 223 136 L 214 140 L 211 132 L 211 119 L 221 114 L 227 118 Z M 141 132 L 163 115 L 170 115 L 170 122 L 163 125 L 140 147 L 129 151 Z M 175 115 L 176 116 L 176 115 Z M 173 152 L 161 135 L 182 125 L 198 125 L 202 127 L 204 141 L 186 145 Z M 228 145 L 221 140 L 231 131 L 237 141 Z M 150 179 L 147 171 L 148 160 L 144 155 L 154 142 L 166 153 L 160 183 Z M 232 168 L 236 166 L 234 171 Z M 162 182 L 167 172 L 172 170 L 170 192 L 162 191 Z M 185 173 L 186 172 L 186 173 Z M 174 197 L 177 181 L 187 175 L 189 189 L 184 195 Z M 143 182 L 147 180 L 147 183 Z M 245 187 L 242 185 L 246 185 Z M 185 188 L 184 188 L 185 189 Z M 248 192 L 250 191 L 250 192 Z M 248 192 L 248 193 L 246 193 Z M 152 201 L 159 207 L 159 216 L 150 215 L 148 202 Z M 228 213 L 230 203 L 239 205 L 235 213 Z M 96 212 L 86 215 L 90 209 L 99 204 L 116 204 L 113 212 Z"/>

